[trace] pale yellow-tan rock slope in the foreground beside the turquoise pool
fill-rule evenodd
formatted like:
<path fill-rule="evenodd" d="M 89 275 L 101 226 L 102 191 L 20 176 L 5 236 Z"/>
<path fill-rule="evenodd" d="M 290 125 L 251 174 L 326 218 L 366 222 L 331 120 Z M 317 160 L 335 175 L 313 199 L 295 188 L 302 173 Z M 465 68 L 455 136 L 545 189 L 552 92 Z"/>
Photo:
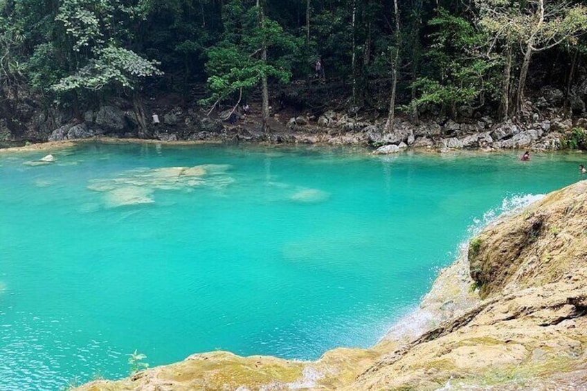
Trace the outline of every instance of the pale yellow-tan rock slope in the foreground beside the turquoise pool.
<path fill-rule="evenodd" d="M 587 390 L 586 229 L 587 181 L 491 225 L 372 349 L 197 354 L 79 390 Z"/>

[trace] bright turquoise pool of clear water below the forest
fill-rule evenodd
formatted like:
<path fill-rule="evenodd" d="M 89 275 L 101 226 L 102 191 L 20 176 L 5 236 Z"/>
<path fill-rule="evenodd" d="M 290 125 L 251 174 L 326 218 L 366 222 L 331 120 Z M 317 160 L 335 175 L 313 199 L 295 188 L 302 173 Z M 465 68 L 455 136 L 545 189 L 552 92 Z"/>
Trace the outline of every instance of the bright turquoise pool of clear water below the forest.
<path fill-rule="evenodd" d="M 584 157 L 96 144 L 27 164 L 43 155 L 0 155 L 1 390 L 125 376 L 135 349 L 367 347 L 476 219 L 578 181 Z M 228 166 L 151 170 L 210 164 Z"/>

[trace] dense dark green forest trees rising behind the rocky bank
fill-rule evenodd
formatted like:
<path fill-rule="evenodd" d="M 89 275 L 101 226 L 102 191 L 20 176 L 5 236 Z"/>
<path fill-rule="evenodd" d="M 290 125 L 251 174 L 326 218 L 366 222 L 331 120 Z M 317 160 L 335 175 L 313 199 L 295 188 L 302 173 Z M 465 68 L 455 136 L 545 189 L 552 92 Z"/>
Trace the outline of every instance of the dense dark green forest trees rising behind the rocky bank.
<path fill-rule="evenodd" d="M 318 83 L 390 128 L 471 108 L 520 119 L 552 85 L 581 113 L 586 30 L 587 1 L 0 0 L 0 106 L 80 113 L 205 85 L 206 109 L 261 91 L 267 115 L 269 94 Z"/>

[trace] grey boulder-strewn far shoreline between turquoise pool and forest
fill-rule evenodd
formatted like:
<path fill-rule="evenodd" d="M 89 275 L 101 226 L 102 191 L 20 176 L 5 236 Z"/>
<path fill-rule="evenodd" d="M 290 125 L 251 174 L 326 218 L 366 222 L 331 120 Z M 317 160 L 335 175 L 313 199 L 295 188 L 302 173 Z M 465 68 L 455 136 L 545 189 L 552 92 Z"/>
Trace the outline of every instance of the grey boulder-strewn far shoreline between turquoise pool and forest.
<path fill-rule="evenodd" d="M 159 113 L 159 124 L 145 123 L 128 102 L 111 103 L 83 113 L 82 118 L 57 109 L 27 111 L 24 129 L 12 132 L 0 123 L 0 142 L 53 142 L 87 138 L 138 138 L 163 142 L 293 143 L 364 145 L 377 154 L 404 149 L 531 149 L 563 148 L 561 140 L 573 127 L 584 129 L 587 118 L 559 116 L 554 109 L 533 109 L 523 118 L 496 122 L 472 108 L 460 110 L 459 121 L 437 116 L 410 122 L 396 118 L 392 131 L 384 130 L 384 119 L 356 111 L 327 110 L 319 116 L 283 111 L 273 113 L 261 131 L 261 118 L 253 111 L 231 124 L 208 116 L 199 107 L 180 105 L 150 107 Z M 0 121 L 1 122 L 1 121 Z"/>

